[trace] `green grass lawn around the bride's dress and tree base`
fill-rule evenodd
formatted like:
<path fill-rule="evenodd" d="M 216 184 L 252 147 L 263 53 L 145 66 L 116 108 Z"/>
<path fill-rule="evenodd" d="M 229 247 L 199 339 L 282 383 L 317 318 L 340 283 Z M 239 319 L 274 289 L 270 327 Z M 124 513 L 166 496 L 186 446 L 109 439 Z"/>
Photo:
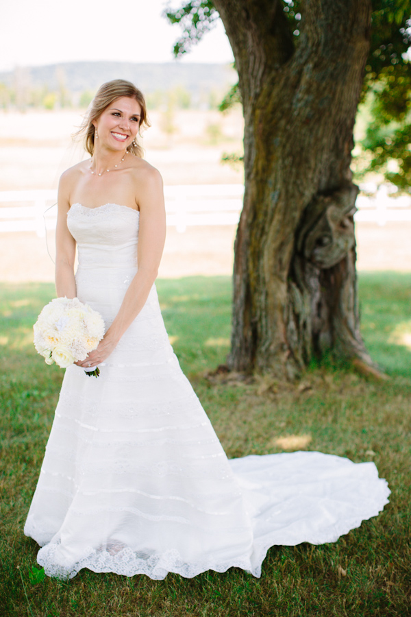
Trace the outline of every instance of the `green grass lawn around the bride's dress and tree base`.
<path fill-rule="evenodd" d="M 0 616 L 406 617 L 411 614 L 411 274 L 360 276 L 362 332 L 390 376 L 377 383 L 345 367 L 312 365 L 299 383 L 269 377 L 226 383 L 206 372 L 229 346 L 229 278 L 159 280 L 164 320 L 229 457 L 321 450 L 375 461 L 390 504 L 335 544 L 271 548 L 262 577 L 232 568 L 195 579 L 95 574 L 36 581 L 38 546 L 23 535 L 53 420 L 62 370 L 32 344 L 53 285 L 0 285 Z"/>

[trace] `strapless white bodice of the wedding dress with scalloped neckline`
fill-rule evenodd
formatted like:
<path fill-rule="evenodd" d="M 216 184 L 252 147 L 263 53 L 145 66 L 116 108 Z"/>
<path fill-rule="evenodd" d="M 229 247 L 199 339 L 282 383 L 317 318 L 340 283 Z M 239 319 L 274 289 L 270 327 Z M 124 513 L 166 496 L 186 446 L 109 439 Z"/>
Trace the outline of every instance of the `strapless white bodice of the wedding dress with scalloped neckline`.
<path fill-rule="evenodd" d="M 138 210 L 128 206 L 73 204 L 67 226 L 77 242 L 79 267 L 136 266 L 139 221 Z"/>

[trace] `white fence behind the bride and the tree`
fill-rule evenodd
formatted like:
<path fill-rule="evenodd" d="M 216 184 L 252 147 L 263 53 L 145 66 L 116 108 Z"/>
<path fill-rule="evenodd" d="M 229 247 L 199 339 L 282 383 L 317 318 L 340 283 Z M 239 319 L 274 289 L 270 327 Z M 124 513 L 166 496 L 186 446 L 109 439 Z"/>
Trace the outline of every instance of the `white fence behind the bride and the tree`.
<path fill-rule="evenodd" d="M 167 225 L 178 232 L 189 226 L 236 225 L 243 193 L 242 184 L 165 186 Z M 55 228 L 56 199 L 55 191 L 0 192 L 0 233 L 34 231 L 44 237 L 46 230 Z M 411 197 L 390 197 L 385 186 L 375 196 L 359 195 L 357 207 L 356 221 L 376 222 L 380 226 L 388 221 L 411 222 Z"/>

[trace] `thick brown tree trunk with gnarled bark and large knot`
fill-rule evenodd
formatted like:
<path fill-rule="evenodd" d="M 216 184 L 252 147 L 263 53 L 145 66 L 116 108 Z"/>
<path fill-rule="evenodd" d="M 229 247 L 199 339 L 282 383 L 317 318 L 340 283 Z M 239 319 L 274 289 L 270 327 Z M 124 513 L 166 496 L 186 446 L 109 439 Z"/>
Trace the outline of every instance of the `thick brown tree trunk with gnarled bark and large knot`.
<path fill-rule="evenodd" d="M 371 0 L 214 0 L 245 116 L 229 367 L 292 378 L 327 351 L 371 364 L 360 337 L 351 182 Z"/>

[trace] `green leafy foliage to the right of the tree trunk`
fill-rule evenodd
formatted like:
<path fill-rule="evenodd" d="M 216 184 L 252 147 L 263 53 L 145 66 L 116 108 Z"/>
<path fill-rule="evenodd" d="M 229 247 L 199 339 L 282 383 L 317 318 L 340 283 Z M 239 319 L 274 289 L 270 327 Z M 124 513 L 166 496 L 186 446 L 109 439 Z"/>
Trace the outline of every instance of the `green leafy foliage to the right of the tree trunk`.
<path fill-rule="evenodd" d="M 371 106 L 371 121 L 361 142 L 370 171 L 403 191 L 411 186 L 411 1 L 373 2 L 371 51 L 362 100 Z"/>

